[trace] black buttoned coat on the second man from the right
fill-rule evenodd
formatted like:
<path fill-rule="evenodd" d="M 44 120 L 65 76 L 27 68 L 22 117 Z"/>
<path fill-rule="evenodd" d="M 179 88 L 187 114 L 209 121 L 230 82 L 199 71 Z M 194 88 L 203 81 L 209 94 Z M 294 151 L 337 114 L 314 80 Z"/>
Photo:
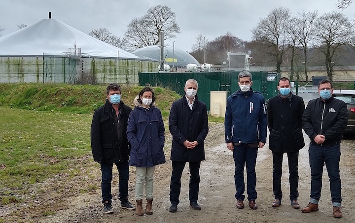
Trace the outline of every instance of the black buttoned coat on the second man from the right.
<path fill-rule="evenodd" d="M 267 102 L 269 149 L 277 153 L 296 152 L 305 146 L 302 133 L 302 97 L 274 96 Z"/>

